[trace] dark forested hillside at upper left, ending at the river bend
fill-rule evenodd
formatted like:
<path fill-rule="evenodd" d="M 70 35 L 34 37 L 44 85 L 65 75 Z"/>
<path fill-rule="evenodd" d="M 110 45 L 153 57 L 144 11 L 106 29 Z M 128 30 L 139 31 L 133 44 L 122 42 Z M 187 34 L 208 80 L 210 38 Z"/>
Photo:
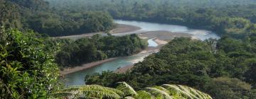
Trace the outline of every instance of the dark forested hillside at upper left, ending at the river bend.
<path fill-rule="evenodd" d="M 43 0 L 0 0 L 0 25 L 32 29 L 50 36 L 107 31 L 114 28 L 108 13 L 54 11 Z"/>

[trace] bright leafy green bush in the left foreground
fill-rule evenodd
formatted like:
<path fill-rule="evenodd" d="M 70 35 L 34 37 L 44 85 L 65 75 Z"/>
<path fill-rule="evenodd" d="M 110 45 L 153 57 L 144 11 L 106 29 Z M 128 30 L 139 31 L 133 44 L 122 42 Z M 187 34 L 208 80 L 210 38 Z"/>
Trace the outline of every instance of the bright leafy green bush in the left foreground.
<path fill-rule="evenodd" d="M 53 50 L 33 32 L 1 30 L 0 98 L 46 98 L 56 87 L 58 66 Z"/>

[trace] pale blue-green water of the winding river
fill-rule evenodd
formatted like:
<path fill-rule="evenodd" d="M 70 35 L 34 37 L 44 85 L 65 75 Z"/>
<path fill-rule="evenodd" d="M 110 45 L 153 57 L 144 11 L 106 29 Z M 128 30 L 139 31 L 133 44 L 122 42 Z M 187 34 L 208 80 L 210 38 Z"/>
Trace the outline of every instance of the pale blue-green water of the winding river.
<path fill-rule="evenodd" d="M 141 30 L 136 30 L 134 32 L 129 33 L 119 33 L 114 35 L 126 35 L 132 33 L 142 33 L 147 31 L 156 31 L 156 30 L 165 30 L 174 33 L 188 33 L 193 35 L 193 37 L 198 38 L 199 40 L 206 40 L 208 38 L 218 39 L 218 35 L 208 30 L 196 30 L 191 29 L 182 25 L 169 25 L 169 24 L 161 24 L 161 23 L 148 23 L 148 22 L 139 22 L 139 21 L 122 21 L 122 20 L 114 20 L 115 23 L 126 24 L 126 25 L 134 25 L 142 28 Z M 153 39 L 149 39 L 149 47 L 157 47 L 157 43 L 154 42 Z M 106 62 L 104 64 L 100 64 L 99 66 L 94 66 L 90 69 L 85 69 L 82 71 L 78 71 L 72 74 L 65 75 L 65 85 L 66 86 L 79 86 L 85 84 L 85 76 L 87 74 L 101 73 L 102 71 L 115 71 L 119 67 L 131 66 L 134 63 L 140 62 L 144 59 L 144 57 L 148 56 L 151 53 L 140 53 L 134 54 L 129 57 L 121 57 L 119 59 L 115 59 L 111 62 Z"/>

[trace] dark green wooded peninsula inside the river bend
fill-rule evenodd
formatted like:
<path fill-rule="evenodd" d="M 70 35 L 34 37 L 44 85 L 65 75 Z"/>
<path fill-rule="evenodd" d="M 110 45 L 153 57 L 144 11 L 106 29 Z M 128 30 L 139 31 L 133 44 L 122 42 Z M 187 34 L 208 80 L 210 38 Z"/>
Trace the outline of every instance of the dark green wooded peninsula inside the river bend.
<path fill-rule="evenodd" d="M 68 67 L 95 62 L 110 57 L 124 57 L 142 51 L 146 40 L 137 35 L 122 37 L 93 35 L 79 40 L 60 39 L 60 51 L 56 54 L 59 66 Z"/>

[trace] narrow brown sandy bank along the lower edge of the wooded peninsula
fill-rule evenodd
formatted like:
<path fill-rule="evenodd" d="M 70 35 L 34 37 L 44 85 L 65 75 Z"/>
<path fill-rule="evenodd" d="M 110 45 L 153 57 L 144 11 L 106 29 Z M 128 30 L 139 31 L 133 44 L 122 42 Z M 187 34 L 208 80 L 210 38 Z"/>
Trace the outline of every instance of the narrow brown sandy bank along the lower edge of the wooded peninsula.
<path fill-rule="evenodd" d="M 63 71 L 60 71 L 60 74 L 66 75 L 66 74 L 71 74 L 71 73 L 74 73 L 74 72 L 77 72 L 77 71 L 82 71 L 82 70 L 85 70 L 85 69 L 90 69 L 90 68 L 92 68 L 94 66 L 98 66 L 100 64 L 104 64 L 105 62 L 114 61 L 115 59 L 118 59 L 118 57 L 110 58 L 110 59 L 105 59 L 105 60 L 100 60 L 100 61 L 97 61 L 97 62 L 91 62 L 91 63 L 88 63 L 88 64 L 82 64 L 80 66 L 75 66 L 74 68 L 65 68 Z"/>

